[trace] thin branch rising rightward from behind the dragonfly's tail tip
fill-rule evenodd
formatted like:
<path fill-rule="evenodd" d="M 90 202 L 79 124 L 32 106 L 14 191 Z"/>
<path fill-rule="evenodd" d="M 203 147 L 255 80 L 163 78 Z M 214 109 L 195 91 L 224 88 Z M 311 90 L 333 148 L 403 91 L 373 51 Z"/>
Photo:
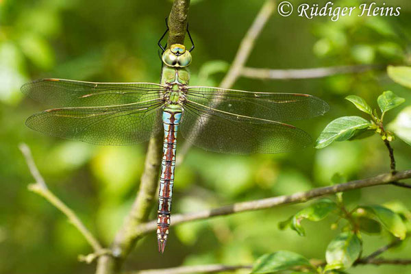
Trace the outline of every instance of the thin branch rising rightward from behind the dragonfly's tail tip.
<path fill-rule="evenodd" d="M 203 210 L 199 212 L 192 212 L 187 214 L 175 214 L 173 215 L 173 225 L 179 223 L 186 223 L 189 221 L 196 221 L 202 219 L 209 219 L 214 216 L 224 216 L 229 214 L 235 214 L 239 212 L 246 212 L 251 210 L 262 210 L 266 208 L 274 208 L 276 206 L 282 206 L 289 203 L 303 203 L 321 197 L 325 195 L 335 194 L 337 192 L 343 192 L 347 190 L 353 190 L 358 188 L 366 188 L 369 186 L 378 186 L 382 184 L 390 184 L 400 179 L 411 178 L 411 170 L 398 171 L 395 174 L 386 173 L 370 177 L 367 179 L 359 179 L 356 181 L 347 182 L 345 184 L 336 184 L 334 186 L 325 186 L 323 188 L 314 188 L 306 192 L 297 192 L 292 195 L 282 195 L 277 197 L 271 197 L 266 199 L 259 199 L 254 201 L 245 201 L 241 203 L 234 203 L 229 206 L 223 206 L 221 208 L 215 208 L 213 210 Z M 155 221 L 145 223 L 136 227 L 136 234 L 145 234 L 155 230 Z"/>

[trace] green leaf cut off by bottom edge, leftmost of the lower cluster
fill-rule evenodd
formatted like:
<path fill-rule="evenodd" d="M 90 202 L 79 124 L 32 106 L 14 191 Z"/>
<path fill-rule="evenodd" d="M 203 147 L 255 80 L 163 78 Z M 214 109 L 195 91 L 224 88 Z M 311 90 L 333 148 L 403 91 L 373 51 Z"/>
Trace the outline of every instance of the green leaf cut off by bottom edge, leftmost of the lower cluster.
<path fill-rule="evenodd" d="M 300 254 L 291 251 L 277 251 L 258 258 L 251 273 L 277 273 L 295 266 L 312 267 L 310 262 Z"/>

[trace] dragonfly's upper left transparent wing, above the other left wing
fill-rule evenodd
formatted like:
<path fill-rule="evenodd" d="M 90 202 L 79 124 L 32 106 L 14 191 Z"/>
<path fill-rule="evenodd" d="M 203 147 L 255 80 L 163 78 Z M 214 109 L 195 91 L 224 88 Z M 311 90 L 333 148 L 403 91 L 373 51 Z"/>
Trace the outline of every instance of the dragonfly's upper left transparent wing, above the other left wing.
<path fill-rule="evenodd" d="M 65 79 L 40 79 L 21 91 L 53 107 L 88 107 L 136 103 L 160 97 L 164 87 L 151 83 L 93 83 Z"/>

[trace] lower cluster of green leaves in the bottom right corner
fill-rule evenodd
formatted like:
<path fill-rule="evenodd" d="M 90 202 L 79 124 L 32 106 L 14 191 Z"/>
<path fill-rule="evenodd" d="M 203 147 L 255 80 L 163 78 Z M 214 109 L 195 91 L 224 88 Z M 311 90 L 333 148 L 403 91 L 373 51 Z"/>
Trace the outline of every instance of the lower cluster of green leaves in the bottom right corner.
<path fill-rule="evenodd" d="M 378 236 L 385 230 L 390 238 L 404 240 L 411 234 L 410 211 L 401 204 L 381 206 L 364 205 L 347 210 L 341 194 L 332 199 L 319 199 L 303 208 L 289 219 L 279 223 L 280 229 L 289 227 L 300 236 L 305 236 L 302 221 L 321 221 L 327 217 L 336 218 L 332 229 L 341 225 L 341 231 L 329 242 L 325 251 L 325 262 L 308 260 L 298 253 L 277 251 L 261 256 L 251 273 L 345 273 L 360 260 L 363 250 L 362 234 Z M 284 272 L 285 271 L 285 272 Z"/>

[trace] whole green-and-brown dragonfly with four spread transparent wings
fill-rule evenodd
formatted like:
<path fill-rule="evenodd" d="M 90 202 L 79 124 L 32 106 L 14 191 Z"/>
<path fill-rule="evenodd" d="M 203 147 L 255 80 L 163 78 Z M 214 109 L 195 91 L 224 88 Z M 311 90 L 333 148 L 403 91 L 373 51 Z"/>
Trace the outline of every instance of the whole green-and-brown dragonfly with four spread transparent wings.
<path fill-rule="evenodd" d="M 306 94 L 189 86 L 194 43 L 191 49 L 181 44 L 166 48 L 160 39 L 158 45 L 162 49 L 160 84 L 48 78 L 25 84 L 21 90 L 52 107 L 26 121 L 43 134 L 96 145 L 133 145 L 164 132 L 157 212 L 158 251 L 164 253 L 171 223 L 177 132 L 207 151 L 295 151 L 308 146 L 311 138 L 286 122 L 322 115 L 329 106 Z"/>

